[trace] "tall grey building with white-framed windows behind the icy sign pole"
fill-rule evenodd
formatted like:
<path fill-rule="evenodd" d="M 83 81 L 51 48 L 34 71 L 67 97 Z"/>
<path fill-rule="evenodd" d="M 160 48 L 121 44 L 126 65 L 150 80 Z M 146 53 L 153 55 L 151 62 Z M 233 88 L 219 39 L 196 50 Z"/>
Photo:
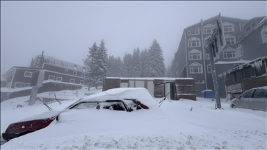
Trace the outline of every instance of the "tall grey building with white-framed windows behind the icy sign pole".
<path fill-rule="evenodd" d="M 201 20 L 197 24 L 184 28 L 179 48 L 172 62 L 174 77 L 191 77 L 195 79 L 197 97 L 200 97 L 202 90 L 213 90 L 209 53 L 206 53 L 205 49 L 217 18 L 218 16 L 204 21 Z M 248 20 L 223 16 L 221 18 L 225 31 L 226 46 L 219 53 L 215 62 L 238 60 L 242 56 L 242 53 L 236 51 L 235 44 L 242 38 L 244 34 L 243 27 Z M 220 74 L 228 69 L 231 68 L 216 68 L 216 73 Z M 219 83 L 219 90 L 225 91 L 225 85 L 220 85 Z M 225 97 L 225 93 L 221 92 L 220 97 Z"/>

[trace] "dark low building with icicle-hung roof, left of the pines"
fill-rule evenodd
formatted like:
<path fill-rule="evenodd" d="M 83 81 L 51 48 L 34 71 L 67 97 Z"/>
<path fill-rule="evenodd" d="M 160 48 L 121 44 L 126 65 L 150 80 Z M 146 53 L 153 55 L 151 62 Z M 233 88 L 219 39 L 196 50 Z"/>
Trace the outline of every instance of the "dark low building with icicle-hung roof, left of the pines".
<path fill-rule="evenodd" d="M 76 90 L 86 85 L 86 67 L 50 56 L 36 56 L 30 67 L 12 67 L 1 76 L 1 101 L 31 94 L 39 71 L 44 72 L 38 93 Z"/>

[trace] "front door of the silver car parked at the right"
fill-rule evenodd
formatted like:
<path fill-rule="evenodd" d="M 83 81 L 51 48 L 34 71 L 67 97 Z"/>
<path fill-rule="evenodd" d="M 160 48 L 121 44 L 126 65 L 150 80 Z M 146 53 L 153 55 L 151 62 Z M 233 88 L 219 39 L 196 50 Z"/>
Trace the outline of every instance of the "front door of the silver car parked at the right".
<path fill-rule="evenodd" d="M 241 94 L 240 99 L 238 99 L 238 108 L 250 108 L 250 100 L 252 97 L 252 94 L 254 92 L 254 89 L 252 90 L 247 90 Z"/>

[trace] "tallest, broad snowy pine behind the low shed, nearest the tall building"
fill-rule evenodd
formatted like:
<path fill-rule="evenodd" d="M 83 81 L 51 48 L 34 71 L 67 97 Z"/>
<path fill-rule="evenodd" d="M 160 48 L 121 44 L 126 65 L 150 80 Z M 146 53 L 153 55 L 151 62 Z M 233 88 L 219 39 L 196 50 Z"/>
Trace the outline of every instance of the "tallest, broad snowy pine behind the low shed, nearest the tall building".
<path fill-rule="evenodd" d="M 161 47 L 156 40 L 149 47 L 147 53 L 147 61 L 145 63 L 145 77 L 163 77 L 165 74 L 165 65 Z"/>

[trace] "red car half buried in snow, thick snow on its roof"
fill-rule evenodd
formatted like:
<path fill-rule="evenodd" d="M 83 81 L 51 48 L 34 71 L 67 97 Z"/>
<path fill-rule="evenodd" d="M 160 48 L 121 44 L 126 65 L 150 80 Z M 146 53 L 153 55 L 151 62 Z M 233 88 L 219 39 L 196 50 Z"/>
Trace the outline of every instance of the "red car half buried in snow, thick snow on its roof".
<path fill-rule="evenodd" d="M 146 110 L 153 110 L 155 108 L 159 109 L 156 101 L 154 101 L 154 98 L 149 94 L 147 89 L 116 88 L 79 99 L 64 110 L 52 110 L 22 119 L 19 122 L 10 124 L 2 135 L 3 139 L 11 140 L 27 133 L 32 134 L 32 132 L 40 131 L 49 126 L 52 122 L 58 122 L 58 124 L 55 123 L 54 126 L 60 126 L 61 124 L 59 123 L 65 123 L 70 120 L 75 122 L 75 119 L 79 120 L 79 122 L 84 121 L 81 124 L 93 126 L 92 124 L 94 124 L 93 120 L 95 116 L 98 116 L 97 118 L 103 118 L 104 116 L 113 114 L 116 118 L 123 119 L 124 116 L 120 116 L 120 114 L 124 114 L 124 112 L 128 113 L 138 110 L 142 113 L 146 113 Z M 100 119 L 97 122 L 102 122 L 102 120 Z M 77 126 L 74 125 L 72 127 Z"/>

